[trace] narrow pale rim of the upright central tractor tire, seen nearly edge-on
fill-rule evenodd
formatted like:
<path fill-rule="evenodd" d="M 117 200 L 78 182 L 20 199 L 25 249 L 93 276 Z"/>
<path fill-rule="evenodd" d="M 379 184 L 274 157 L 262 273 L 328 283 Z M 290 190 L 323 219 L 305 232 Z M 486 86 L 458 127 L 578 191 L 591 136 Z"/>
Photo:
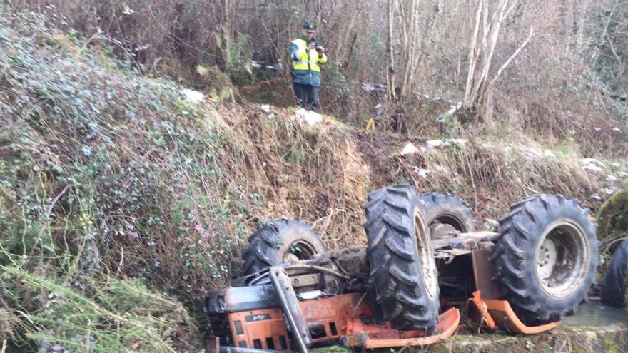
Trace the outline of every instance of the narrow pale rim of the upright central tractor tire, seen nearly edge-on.
<path fill-rule="evenodd" d="M 419 210 L 415 211 L 415 236 L 417 237 L 417 254 L 419 264 L 425 282 L 425 289 L 430 297 L 436 297 L 438 290 L 438 276 L 436 272 L 436 261 L 432 252 L 432 242 L 430 234 L 427 232 L 425 219 Z"/>

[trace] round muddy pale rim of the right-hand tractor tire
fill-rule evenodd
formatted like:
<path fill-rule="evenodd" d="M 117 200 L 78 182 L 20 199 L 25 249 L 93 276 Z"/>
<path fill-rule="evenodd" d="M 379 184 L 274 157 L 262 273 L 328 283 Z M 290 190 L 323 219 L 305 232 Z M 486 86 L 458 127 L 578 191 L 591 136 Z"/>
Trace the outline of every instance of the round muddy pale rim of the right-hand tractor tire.
<path fill-rule="evenodd" d="M 590 261 L 589 241 L 582 227 L 569 220 L 553 222 L 535 254 L 542 290 L 552 297 L 569 297 L 582 286 Z"/>

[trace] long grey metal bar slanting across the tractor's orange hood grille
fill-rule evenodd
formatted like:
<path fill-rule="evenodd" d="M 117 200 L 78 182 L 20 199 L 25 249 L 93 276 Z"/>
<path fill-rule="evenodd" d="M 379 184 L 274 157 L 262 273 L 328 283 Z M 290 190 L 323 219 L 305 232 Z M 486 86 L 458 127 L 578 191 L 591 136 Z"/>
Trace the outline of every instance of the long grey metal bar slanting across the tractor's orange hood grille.
<path fill-rule="evenodd" d="M 270 280 L 277 291 L 283 314 L 288 321 L 287 324 L 293 333 L 293 338 L 298 343 L 301 352 L 307 353 L 308 347 L 312 344 L 312 336 L 305 317 L 303 317 L 303 312 L 301 312 L 299 300 L 292 287 L 290 277 L 283 268 L 273 266 L 270 267 Z"/>

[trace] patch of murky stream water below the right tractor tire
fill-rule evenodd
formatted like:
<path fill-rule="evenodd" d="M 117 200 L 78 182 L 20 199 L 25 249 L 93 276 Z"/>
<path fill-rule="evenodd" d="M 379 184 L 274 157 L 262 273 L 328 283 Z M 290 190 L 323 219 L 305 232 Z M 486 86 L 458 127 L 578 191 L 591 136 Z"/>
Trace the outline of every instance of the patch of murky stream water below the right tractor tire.
<path fill-rule="evenodd" d="M 628 312 L 625 312 L 624 309 L 604 305 L 596 298 L 580 305 L 577 314 L 566 317 L 562 324 L 565 326 L 628 324 Z"/>

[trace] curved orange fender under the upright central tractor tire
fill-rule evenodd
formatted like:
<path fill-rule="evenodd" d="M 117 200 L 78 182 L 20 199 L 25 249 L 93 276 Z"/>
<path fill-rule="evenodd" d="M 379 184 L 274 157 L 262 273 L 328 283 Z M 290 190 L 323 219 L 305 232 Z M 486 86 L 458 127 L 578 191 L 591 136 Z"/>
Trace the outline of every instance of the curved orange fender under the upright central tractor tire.
<path fill-rule="evenodd" d="M 354 319 L 348 322 L 345 342 L 362 349 L 383 349 L 392 347 L 425 346 L 435 344 L 455 334 L 460 325 L 460 310 L 448 309 L 438 317 L 435 334 L 425 337 L 425 330 L 399 331 L 390 329 L 388 324 L 364 324 Z"/>

